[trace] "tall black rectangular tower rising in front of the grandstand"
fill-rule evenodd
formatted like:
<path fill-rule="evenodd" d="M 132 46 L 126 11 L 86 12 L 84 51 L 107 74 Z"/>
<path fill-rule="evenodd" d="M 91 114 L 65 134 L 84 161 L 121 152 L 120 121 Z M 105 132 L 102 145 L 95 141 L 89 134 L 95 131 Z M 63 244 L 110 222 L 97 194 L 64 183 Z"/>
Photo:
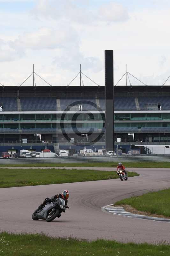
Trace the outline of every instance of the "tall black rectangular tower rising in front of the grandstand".
<path fill-rule="evenodd" d="M 105 50 L 105 142 L 106 150 L 114 150 L 114 84 L 113 50 Z"/>

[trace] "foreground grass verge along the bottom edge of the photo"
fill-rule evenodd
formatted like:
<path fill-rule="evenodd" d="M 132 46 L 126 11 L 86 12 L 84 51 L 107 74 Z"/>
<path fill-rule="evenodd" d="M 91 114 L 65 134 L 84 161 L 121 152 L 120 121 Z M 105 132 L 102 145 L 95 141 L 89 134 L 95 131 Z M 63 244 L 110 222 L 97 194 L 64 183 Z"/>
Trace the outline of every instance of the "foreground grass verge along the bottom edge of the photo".
<path fill-rule="evenodd" d="M 122 244 L 116 241 L 88 242 L 73 238 L 51 238 L 45 235 L 0 233 L 0 256 L 169 256 L 165 244 Z"/>

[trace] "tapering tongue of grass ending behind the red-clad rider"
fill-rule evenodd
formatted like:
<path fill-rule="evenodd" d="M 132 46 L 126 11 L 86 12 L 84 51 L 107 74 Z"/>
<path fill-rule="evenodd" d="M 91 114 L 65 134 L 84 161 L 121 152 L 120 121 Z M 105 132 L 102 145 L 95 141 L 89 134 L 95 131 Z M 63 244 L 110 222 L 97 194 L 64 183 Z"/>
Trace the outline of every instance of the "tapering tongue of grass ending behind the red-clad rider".
<path fill-rule="evenodd" d="M 137 176 L 128 172 L 128 176 Z M 0 169 L 0 188 L 60 184 L 90 180 L 109 180 L 119 176 L 116 172 L 66 169 Z"/>

